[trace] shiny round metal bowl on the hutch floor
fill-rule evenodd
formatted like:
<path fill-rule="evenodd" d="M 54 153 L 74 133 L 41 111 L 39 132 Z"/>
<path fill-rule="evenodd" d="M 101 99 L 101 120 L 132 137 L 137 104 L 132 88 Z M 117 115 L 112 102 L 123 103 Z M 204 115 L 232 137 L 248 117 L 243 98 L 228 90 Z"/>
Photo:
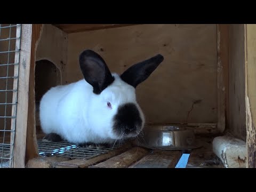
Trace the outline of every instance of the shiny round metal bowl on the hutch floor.
<path fill-rule="evenodd" d="M 198 145 L 191 127 L 177 125 L 147 125 L 137 145 L 150 149 L 189 150 Z"/>

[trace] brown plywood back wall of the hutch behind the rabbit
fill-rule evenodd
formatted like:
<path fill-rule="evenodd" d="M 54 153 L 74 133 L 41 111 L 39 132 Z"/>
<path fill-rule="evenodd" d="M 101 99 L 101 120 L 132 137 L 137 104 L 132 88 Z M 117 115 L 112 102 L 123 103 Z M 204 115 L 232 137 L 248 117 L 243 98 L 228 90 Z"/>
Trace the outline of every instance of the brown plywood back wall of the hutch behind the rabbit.
<path fill-rule="evenodd" d="M 68 34 L 63 83 L 83 78 L 78 55 L 92 49 L 121 74 L 155 54 L 164 62 L 137 87 L 148 123 L 217 123 L 217 25 L 136 25 Z"/>

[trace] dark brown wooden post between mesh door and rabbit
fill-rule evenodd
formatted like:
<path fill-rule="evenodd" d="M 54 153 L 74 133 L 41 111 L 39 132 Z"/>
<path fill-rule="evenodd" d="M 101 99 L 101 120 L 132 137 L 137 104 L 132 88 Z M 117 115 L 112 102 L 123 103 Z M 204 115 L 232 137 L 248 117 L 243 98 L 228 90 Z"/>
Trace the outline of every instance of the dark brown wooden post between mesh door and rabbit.
<path fill-rule="evenodd" d="M 38 40 L 42 34 L 43 25 L 33 24 L 31 39 L 31 58 L 30 58 L 30 75 L 29 75 L 29 100 L 28 100 L 28 128 L 27 128 L 27 146 L 26 146 L 26 163 L 29 159 L 38 157 L 38 146 L 36 140 L 35 126 L 35 59 Z"/>

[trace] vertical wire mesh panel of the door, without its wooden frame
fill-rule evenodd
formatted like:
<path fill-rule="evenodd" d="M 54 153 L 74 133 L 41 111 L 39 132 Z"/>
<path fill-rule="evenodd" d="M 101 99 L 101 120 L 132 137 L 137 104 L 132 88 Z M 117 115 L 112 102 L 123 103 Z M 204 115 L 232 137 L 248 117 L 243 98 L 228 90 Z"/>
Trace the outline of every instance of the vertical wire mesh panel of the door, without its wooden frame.
<path fill-rule="evenodd" d="M 20 34 L 20 24 L 0 24 L 0 168 L 13 160 Z"/>

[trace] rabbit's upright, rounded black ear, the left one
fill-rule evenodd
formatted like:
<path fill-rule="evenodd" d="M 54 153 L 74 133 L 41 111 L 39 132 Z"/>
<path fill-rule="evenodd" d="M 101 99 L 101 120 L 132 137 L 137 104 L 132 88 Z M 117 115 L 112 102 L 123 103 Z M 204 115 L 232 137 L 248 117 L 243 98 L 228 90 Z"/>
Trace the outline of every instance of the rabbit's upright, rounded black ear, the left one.
<path fill-rule="evenodd" d="M 106 62 L 92 50 L 84 50 L 79 55 L 79 65 L 85 81 L 92 85 L 95 94 L 100 94 L 115 80 Z"/>

